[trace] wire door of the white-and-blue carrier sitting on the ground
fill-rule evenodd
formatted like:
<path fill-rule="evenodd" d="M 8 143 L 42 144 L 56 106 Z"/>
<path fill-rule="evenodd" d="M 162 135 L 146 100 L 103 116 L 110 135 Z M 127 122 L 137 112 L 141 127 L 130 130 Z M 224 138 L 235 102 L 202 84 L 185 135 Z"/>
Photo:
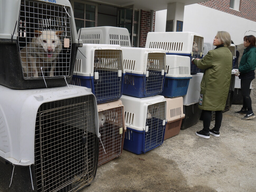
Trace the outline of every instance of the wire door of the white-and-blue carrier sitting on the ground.
<path fill-rule="evenodd" d="M 148 151 L 157 145 L 162 144 L 165 121 L 165 106 L 166 102 L 151 104 L 148 106 L 146 127 L 148 131 L 145 132 L 145 151 Z"/>

